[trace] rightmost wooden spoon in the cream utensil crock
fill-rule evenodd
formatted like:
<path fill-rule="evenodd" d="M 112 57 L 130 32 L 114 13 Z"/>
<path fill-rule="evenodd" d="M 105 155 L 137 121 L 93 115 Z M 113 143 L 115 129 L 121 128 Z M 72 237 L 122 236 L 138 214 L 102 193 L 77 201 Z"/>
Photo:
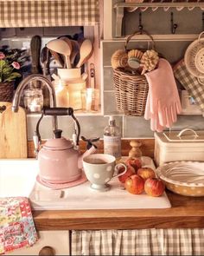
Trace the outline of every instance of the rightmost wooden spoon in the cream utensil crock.
<path fill-rule="evenodd" d="M 80 61 L 76 68 L 80 68 L 92 56 L 92 42 L 86 39 L 80 46 Z"/>

